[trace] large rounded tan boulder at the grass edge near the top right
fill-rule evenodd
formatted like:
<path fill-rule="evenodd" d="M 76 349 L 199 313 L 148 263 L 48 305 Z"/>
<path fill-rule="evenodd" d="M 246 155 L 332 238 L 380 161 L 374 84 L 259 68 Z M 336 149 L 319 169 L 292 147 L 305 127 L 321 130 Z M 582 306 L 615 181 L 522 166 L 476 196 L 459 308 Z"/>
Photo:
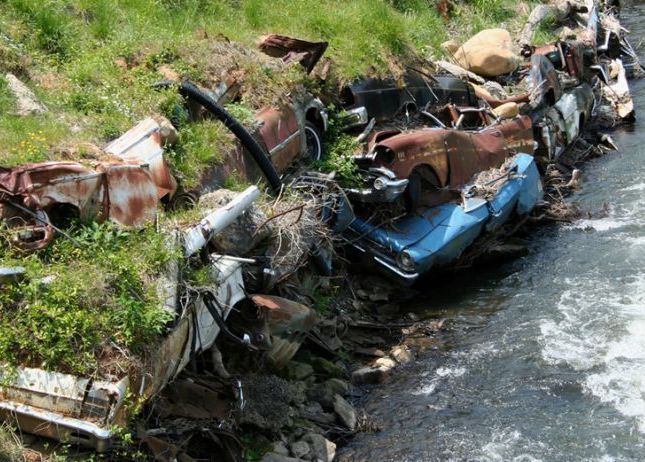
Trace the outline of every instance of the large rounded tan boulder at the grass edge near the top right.
<path fill-rule="evenodd" d="M 516 70 L 521 59 L 512 51 L 511 34 L 505 29 L 486 29 L 471 37 L 455 52 L 457 64 L 484 77 Z"/>

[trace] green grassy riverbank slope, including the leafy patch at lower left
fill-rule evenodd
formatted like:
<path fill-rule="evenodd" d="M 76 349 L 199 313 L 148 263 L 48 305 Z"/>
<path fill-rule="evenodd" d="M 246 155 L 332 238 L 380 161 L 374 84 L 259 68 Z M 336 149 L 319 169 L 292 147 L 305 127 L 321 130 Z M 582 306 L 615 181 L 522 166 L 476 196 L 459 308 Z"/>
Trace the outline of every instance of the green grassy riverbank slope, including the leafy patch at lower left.
<path fill-rule="evenodd" d="M 176 95 L 150 85 L 164 66 L 212 82 L 211 47 L 221 45 L 221 35 L 248 46 L 269 32 L 328 40 L 336 78 L 346 80 L 388 74 L 413 55 L 438 54 L 448 37 L 519 19 L 512 0 L 458 5 L 446 24 L 429 0 L 4 0 L 2 75 L 17 74 L 50 111 L 12 115 L 14 101 L 0 77 L 0 165 L 91 157 L 80 143 L 101 145 L 151 113 L 169 114 Z M 251 83 L 265 87 L 304 79 L 297 68 L 277 78 L 269 65 L 243 65 Z M 219 160 L 226 136 L 214 122 L 180 135 L 170 160 L 190 183 Z M 0 293 L 3 360 L 88 373 L 103 339 L 136 351 L 163 325 L 150 282 L 169 256 L 154 230 L 117 235 L 103 225 L 72 232 L 82 249 L 59 238 L 28 258 L 0 239 L 0 265 L 25 266 L 31 281 Z M 39 282 L 51 274 L 52 283 Z"/>

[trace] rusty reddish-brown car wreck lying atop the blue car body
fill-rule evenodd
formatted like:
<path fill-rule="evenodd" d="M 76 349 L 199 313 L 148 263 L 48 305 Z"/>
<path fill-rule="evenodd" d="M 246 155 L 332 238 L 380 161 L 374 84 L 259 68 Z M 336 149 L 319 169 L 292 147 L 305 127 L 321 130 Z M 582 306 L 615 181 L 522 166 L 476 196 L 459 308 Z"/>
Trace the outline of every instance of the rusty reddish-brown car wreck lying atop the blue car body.
<path fill-rule="evenodd" d="M 389 202 L 405 191 L 409 208 L 436 205 L 450 200 L 475 173 L 499 167 L 519 152 L 533 154 L 528 116 L 502 120 L 486 108 L 454 105 L 426 116 L 434 127 L 383 130 L 368 137 L 366 152 L 355 160 L 372 184 L 351 190 L 353 199 Z"/>

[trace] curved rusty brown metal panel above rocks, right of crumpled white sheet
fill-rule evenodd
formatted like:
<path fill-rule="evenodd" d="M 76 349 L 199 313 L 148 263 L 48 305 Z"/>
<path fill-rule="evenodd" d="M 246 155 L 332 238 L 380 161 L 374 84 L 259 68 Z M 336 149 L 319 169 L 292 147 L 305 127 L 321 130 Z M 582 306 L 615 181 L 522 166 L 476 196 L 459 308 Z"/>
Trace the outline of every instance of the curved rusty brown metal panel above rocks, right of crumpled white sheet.
<path fill-rule="evenodd" d="M 302 303 L 274 295 L 253 295 L 251 300 L 266 310 L 272 343 L 267 358 L 276 367 L 284 367 L 298 352 L 318 316 Z"/>

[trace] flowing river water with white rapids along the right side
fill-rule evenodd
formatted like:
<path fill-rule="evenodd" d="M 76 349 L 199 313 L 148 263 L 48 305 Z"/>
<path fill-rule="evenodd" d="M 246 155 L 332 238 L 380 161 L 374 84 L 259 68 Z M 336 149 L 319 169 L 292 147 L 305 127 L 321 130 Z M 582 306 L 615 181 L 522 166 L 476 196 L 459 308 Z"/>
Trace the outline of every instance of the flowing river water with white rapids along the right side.
<path fill-rule="evenodd" d="M 645 2 L 622 16 L 638 44 Z M 447 319 L 442 344 L 370 391 L 383 430 L 341 460 L 645 460 L 645 81 L 631 88 L 636 125 L 572 198 L 609 215 L 543 228 L 528 256 L 409 307 Z"/>

